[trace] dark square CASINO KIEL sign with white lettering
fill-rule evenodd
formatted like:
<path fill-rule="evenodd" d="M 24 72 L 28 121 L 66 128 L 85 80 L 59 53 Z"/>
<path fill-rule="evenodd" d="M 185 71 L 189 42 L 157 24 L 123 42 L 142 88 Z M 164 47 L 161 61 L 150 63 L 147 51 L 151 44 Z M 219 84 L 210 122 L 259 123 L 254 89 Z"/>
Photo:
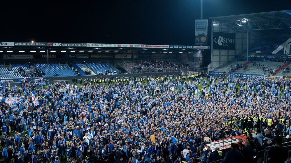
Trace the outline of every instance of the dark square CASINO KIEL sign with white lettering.
<path fill-rule="evenodd" d="M 235 33 L 213 32 L 213 49 L 235 50 Z"/>

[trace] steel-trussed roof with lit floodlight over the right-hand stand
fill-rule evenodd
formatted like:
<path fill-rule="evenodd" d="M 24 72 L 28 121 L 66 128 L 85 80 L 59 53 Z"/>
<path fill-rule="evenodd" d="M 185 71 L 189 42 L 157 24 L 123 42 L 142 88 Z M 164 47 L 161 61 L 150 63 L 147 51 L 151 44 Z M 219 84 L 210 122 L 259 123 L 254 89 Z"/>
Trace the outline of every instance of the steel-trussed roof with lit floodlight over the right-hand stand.
<path fill-rule="evenodd" d="M 213 20 L 214 25 L 221 23 L 235 31 L 291 29 L 291 10 L 210 17 L 209 19 Z"/>

